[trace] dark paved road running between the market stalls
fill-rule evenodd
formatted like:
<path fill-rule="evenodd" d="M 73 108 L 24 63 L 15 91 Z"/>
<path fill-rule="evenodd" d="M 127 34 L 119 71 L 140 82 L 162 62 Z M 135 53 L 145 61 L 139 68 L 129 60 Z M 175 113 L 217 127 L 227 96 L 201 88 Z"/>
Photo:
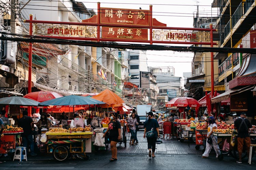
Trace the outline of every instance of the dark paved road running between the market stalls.
<path fill-rule="evenodd" d="M 156 157 L 147 156 L 146 139 L 142 137 L 140 131 L 138 136 L 140 145 L 123 147 L 124 143 L 118 147 L 118 160 L 109 162 L 110 151 L 99 151 L 89 154 L 87 161 L 82 159 L 67 160 L 56 162 L 51 155 L 39 155 L 37 157 L 28 157 L 28 162 L 11 161 L 11 158 L 1 158 L 1 170 L 13 169 L 256 169 L 256 158 L 253 158 L 253 164 L 248 165 L 244 159 L 242 164 L 237 164 L 231 156 L 225 156 L 222 161 L 215 157 L 212 151 L 209 158 L 201 158 L 202 147 L 195 149 L 195 144 L 178 142 L 176 139 L 164 139 L 163 143 L 157 145 Z M 128 143 L 127 143 L 128 144 Z"/>

